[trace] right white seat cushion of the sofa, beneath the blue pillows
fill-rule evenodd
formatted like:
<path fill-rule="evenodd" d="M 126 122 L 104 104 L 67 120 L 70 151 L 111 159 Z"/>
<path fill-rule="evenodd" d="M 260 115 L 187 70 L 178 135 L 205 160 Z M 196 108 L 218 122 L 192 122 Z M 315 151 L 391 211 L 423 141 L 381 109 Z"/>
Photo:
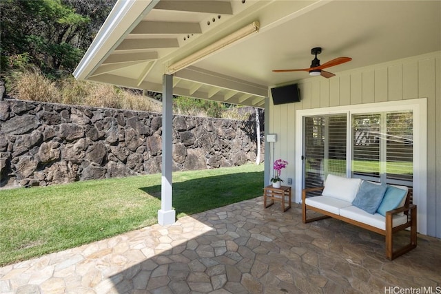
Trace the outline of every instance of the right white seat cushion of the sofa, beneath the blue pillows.
<path fill-rule="evenodd" d="M 369 224 L 372 227 L 385 230 L 386 229 L 386 218 L 380 213 L 367 213 L 366 211 L 359 209 L 358 207 L 349 206 L 342 207 L 340 209 L 340 216 L 345 218 L 350 218 L 351 220 L 356 220 L 364 224 Z M 393 227 L 397 227 L 400 224 L 405 224 L 407 222 L 407 216 L 393 216 Z"/>

